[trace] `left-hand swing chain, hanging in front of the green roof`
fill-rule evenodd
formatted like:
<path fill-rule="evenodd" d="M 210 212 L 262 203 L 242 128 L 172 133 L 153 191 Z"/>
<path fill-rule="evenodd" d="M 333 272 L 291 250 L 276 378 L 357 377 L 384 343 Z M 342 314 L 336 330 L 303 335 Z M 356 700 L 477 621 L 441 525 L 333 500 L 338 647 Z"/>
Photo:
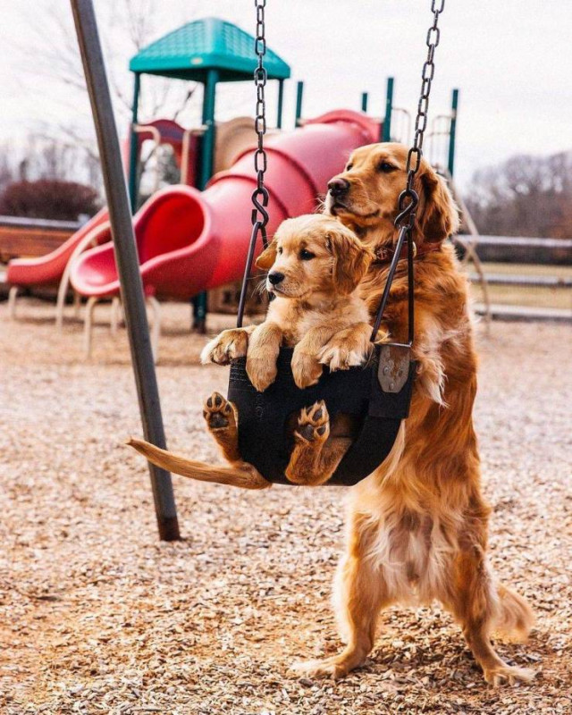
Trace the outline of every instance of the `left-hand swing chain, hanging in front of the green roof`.
<path fill-rule="evenodd" d="M 266 54 L 266 39 L 265 39 L 265 6 L 266 0 L 255 0 L 257 9 L 257 36 L 255 39 L 254 49 L 258 58 L 257 68 L 254 71 L 254 82 L 257 88 L 257 110 L 254 127 L 258 136 L 257 150 L 254 155 L 254 168 L 257 172 L 257 188 L 252 194 L 252 225 L 257 226 L 257 231 L 260 231 L 262 242 L 266 248 L 268 239 L 266 238 L 266 224 L 268 223 L 268 189 L 265 187 L 265 171 L 267 168 L 267 157 L 264 147 L 264 136 L 266 133 L 266 101 L 265 101 L 265 86 L 267 80 L 267 72 L 264 66 L 264 57 Z"/>

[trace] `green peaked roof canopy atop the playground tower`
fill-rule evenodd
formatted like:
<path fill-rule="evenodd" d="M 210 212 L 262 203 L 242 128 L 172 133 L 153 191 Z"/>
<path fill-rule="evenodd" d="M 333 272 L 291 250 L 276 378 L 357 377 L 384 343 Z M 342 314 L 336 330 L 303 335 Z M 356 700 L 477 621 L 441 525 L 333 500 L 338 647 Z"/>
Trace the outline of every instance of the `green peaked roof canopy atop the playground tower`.
<path fill-rule="evenodd" d="M 135 55 L 130 71 L 159 74 L 179 80 L 206 81 L 208 70 L 218 70 L 221 81 L 252 80 L 257 66 L 254 38 L 231 22 L 215 17 L 174 29 Z M 287 80 L 290 67 L 269 48 L 265 68 L 269 80 Z"/>

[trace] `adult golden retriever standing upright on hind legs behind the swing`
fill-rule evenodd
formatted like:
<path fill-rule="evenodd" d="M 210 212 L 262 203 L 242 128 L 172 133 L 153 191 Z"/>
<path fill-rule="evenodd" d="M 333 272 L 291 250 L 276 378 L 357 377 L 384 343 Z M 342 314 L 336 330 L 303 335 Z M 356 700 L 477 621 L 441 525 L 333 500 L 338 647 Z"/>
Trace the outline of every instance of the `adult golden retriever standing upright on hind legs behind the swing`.
<path fill-rule="evenodd" d="M 355 231 L 377 256 L 360 283 L 372 316 L 397 239 L 393 222 L 406 184 L 407 155 L 400 144 L 360 147 L 329 184 L 325 213 Z M 425 160 L 413 188 L 419 196 L 413 231 L 418 372 L 411 408 L 389 457 L 349 492 L 346 553 L 333 596 L 346 647 L 296 669 L 343 677 L 371 652 L 384 608 L 437 600 L 458 620 L 486 681 L 513 684 L 534 674 L 501 660 L 491 635 L 500 630 L 524 639 L 534 618 L 523 598 L 496 583 L 487 559 L 491 509 L 481 492 L 472 418 L 476 355 L 467 281 L 453 248 L 443 245 L 458 229 L 458 212 Z M 391 341 L 407 340 L 407 285 L 404 257 L 383 316 Z M 246 349 L 248 331 L 223 333 L 215 347 L 219 361 L 230 362 L 239 343 Z M 347 340 L 333 336 L 326 346 L 330 364 L 347 365 L 349 349 Z"/>

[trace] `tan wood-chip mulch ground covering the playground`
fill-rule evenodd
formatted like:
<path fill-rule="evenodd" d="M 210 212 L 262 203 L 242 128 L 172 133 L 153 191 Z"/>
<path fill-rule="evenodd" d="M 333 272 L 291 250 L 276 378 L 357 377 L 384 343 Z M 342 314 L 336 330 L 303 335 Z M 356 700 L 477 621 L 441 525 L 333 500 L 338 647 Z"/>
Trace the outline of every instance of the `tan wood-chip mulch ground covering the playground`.
<path fill-rule="evenodd" d="M 344 680 L 289 672 L 339 647 L 329 605 L 344 492 L 239 492 L 175 476 L 181 533 L 160 543 L 124 331 L 98 309 L 93 357 L 53 307 L 0 306 L 0 712 L 164 715 L 570 713 L 572 490 L 568 327 L 493 324 L 476 423 L 492 502 L 491 558 L 538 622 L 498 644 L 530 685 L 493 689 L 435 604 L 394 608 Z M 169 445 L 218 460 L 189 307 L 164 306 L 157 368 Z M 214 317 L 213 329 L 224 320 Z M 228 321 L 226 321 L 228 322 Z"/>

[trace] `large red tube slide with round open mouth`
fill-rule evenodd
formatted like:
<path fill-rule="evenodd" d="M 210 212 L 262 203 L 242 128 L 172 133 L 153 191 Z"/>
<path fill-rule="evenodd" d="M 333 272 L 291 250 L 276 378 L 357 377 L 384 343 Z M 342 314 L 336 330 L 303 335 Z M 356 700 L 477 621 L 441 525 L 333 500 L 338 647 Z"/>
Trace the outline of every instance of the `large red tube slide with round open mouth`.
<path fill-rule="evenodd" d="M 379 123 L 339 110 L 301 129 L 268 139 L 265 183 L 270 193 L 268 233 L 284 219 L 315 211 L 327 182 L 350 152 L 379 138 Z M 200 192 L 185 186 L 158 191 L 134 217 L 141 276 L 147 294 L 189 299 L 242 277 L 250 238 L 250 197 L 256 188 L 253 151 L 239 157 Z M 107 229 L 109 231 L 109 229 Z M 83 253 L 71 283 L 85 296 L 119 293 L 114 248 Z"/>

